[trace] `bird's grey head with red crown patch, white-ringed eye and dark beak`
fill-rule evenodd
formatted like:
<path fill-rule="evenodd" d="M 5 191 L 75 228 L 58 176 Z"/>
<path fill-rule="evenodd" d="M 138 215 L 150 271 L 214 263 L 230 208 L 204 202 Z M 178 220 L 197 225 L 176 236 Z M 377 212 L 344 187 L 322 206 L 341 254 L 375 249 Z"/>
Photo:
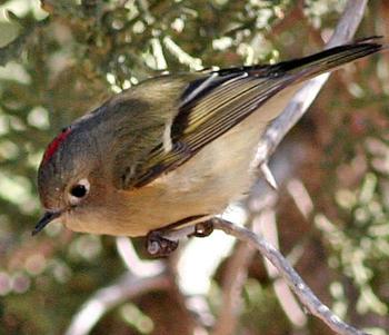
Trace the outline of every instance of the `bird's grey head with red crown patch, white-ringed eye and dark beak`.
<path fill-rule="evenodd" d="M 68 224 L 92 213 L 101 200 L 99 150 L 90 132 L 70 126 L 47 147 L 38 171 L 38 191 L 44 215 L 32 234 L 50 221 Z"/>

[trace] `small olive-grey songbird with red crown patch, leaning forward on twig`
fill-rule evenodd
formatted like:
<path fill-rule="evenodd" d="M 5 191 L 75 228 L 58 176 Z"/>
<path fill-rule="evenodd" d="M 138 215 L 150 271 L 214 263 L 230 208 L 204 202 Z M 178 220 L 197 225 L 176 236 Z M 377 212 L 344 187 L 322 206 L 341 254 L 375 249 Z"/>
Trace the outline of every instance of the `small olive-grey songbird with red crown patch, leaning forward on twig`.
<path fill-rule="evenodd" d="M 64 128 L 38 173 L 46 214 L 76 231 L 143 236 L 220 214 L 253 181 L 265 128 L 303 81 L 378 52 L 375 38 L 277 65 L 164 75 Z"/>

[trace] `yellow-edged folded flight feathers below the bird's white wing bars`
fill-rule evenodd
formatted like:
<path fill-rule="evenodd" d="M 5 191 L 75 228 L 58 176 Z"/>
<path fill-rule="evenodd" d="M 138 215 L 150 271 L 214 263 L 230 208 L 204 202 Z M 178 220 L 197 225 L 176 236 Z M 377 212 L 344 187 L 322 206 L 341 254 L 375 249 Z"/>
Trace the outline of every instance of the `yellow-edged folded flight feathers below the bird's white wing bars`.
<path fill-rule="evenodd" d="M 184 105 L 180 114 L 188 114 L 183 131 L 172 137 L 172 149 L 156 147 L 136 174 L 133 187 L 141 187 L 162 173 L 167 173 L 191 158 L 203 146 L 227 132 L 280 91 L 293 77 L 256 78 L 241 75 L 213 89 L 192 104 Z"/>

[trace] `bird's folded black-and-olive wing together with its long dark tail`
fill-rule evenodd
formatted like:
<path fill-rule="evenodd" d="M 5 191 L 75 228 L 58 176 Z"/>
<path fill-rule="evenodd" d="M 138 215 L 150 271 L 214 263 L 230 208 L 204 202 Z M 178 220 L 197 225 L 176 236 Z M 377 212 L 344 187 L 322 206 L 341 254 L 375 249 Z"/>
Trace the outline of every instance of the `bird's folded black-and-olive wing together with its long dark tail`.
<path fill-rule="evenodd" d="M 363 40 L 275 66 L 212 71 L 191 81 L 169 125 L 169 144 L 161 139 L 147 154 L 141 166 L 127 179 L 126 188 L 142 187 L 177 168 L 283 88 L 380 49 L 380 45 Z"/>

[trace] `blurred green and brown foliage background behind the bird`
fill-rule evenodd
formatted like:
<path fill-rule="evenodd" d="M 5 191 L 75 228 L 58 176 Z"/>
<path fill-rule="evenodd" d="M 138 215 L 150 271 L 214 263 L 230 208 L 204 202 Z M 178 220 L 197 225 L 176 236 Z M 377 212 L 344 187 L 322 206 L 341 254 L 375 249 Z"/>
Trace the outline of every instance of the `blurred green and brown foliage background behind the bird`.
<path fill-rule="evenodd" d="M 0 334 L 332 334 L 259 254 L 223 234 L 167 259 L 41 214 L 47 144 L 162 71 L 276 62 L 322 49 L 340 0 L 1 0 Z M 357 38 L 389 37 L 370 1 Z M 339 316 L 389 334 L 389 55 L 333 73 L 230 219 L 262 231 Z M 233 159 L 233 157 L 231 157 Z M 147 204 L 144 204 L 147 206 Z M 150 209 L 151 210 L 151 209 Z M 213 328 L 215 327 L 215 328 Z"/>

